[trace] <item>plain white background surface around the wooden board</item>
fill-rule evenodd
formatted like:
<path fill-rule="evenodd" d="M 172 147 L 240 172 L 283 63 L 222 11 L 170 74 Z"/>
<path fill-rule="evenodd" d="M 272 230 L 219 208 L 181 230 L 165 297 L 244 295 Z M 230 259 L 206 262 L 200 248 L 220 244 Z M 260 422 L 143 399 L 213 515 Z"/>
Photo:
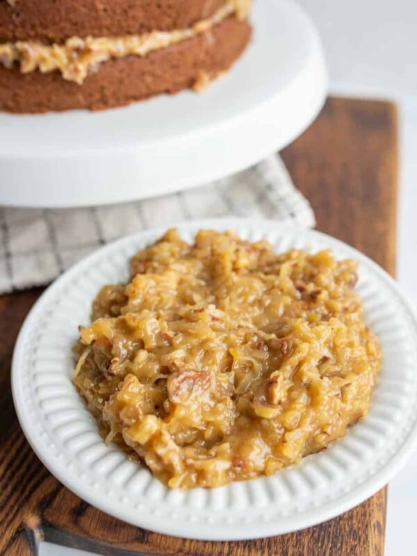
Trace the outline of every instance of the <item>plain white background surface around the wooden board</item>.
<path fill-rule="evenodd" d="M 400 103 L 398 278 L 417 304 L 417 2 L 300 0 L 300 3 L 322 34 L 332 90 L 391 97 Z M 416 555 L 416 469 L 417 455 L 390 483 L 386 556 Z M 58 556 L 56 547 L 51 549 L 45 544 L 43 548 L 40 556 Z M 66 550 L 59 550 L 59 554 L 70 555 Z"/>

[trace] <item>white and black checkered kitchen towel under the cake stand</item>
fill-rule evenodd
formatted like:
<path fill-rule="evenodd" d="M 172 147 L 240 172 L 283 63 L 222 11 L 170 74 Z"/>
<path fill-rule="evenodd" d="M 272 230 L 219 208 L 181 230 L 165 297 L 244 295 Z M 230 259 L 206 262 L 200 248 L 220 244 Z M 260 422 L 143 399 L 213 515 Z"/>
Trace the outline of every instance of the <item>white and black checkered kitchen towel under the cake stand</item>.
<path fill-rule="evenodd" d="M 140 229 L 227 215 L 315 224 L 276 155 L 215 183 L 155 199 L 59 210 L 0 207 L 0 293 L 48 284 L 100 245 Z"/>

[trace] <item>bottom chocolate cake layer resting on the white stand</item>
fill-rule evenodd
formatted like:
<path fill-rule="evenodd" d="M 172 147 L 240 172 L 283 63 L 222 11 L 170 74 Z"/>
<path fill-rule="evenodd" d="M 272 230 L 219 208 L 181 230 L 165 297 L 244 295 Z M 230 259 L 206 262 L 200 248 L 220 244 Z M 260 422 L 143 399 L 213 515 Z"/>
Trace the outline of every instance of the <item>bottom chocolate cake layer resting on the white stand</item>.
<path fill-rule="evenodd" d="M 154 51 L 102 63 L 82 85 L 59 72 L 22 74 L 0 65 L 0 110 L 42 113 L 71 108 L 104 110 L 192 87 L 228 70 L 250 40 L 251 27 L 231 16 L 201 35 Z"/>

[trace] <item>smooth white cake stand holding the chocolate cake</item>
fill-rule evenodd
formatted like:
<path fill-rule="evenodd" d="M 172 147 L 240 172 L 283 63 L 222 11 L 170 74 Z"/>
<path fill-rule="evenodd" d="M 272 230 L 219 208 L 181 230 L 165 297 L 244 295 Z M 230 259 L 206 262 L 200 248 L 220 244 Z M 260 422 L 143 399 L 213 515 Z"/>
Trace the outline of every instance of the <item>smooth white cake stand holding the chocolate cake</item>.
<path fill-rule="evenodd" d="M 223 79 L 101 113 L 0 115 L 0 204 L 86 206 L 197 186 L 288 145 L 327 91 L 320 40 L 293 2 L 257 0 Z"/>

